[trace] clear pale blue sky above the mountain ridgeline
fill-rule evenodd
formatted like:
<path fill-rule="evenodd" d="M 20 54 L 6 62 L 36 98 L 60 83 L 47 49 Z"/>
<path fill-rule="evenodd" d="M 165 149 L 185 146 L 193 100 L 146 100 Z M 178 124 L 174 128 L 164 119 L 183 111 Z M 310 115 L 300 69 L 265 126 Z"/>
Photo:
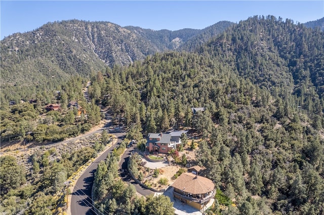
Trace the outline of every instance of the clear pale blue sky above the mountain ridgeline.
<path fill-rule="evenodd" d="M 219 21 L 273 15 L 304 23 L 324 17 L 324 1 L 0 1 L 3 39 L 54 21 L 108 21 L 153 30 L 203 29 Z"/>

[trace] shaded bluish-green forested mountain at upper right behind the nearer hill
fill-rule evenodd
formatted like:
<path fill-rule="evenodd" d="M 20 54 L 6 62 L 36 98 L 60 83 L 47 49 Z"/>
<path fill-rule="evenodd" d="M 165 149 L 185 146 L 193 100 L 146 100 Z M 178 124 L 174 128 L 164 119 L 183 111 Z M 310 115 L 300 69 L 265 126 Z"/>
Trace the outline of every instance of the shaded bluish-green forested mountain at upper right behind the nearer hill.
<path fill-rule="evenodd" d="M 324 98 L 323 48 L 324 32 L 318 29 L 255 16 L 224 31 L 200 53 L 206 51 L 269 90 L 285 86 L 298 95 L 314 90 Z"/>

